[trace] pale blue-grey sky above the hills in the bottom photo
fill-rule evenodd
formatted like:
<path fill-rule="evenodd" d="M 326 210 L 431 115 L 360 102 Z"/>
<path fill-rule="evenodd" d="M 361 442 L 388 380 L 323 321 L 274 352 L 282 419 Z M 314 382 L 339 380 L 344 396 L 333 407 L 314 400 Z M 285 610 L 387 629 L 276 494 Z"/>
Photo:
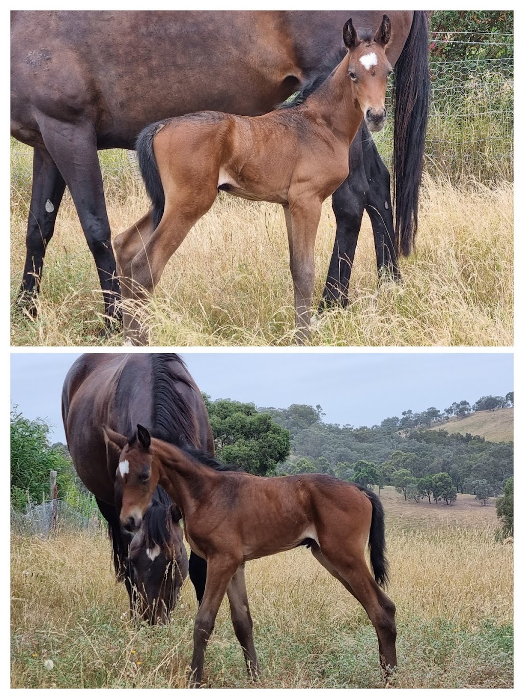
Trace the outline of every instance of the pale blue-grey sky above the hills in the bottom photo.
<path fill-rule="evenodd" d="M 216 398 L 287 408 L 321 405 L 324 421 L 380 424 L 402 410 L 444 410 L 513 390 L 511 352 L 182 352 L 201 391 Z M 79 354 L 11 354 L 11 405 L 52 426 L 64 442 L 60 396 Z"/>

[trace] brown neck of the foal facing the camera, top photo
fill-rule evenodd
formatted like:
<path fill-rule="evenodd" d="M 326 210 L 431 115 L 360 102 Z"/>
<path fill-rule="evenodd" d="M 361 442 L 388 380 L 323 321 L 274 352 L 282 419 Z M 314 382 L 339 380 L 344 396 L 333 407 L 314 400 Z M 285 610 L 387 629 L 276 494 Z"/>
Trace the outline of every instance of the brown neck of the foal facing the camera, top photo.
<path fill-rule="evenodd" d="M 304 106 L 306 111 L 326 122 L 328 129 L 346 141 L 349 147 L 361 125 L 363 113 L 353 94 L 348 67 L 349 57 L 346 56 L 322 85 L 310 94 Z"/>

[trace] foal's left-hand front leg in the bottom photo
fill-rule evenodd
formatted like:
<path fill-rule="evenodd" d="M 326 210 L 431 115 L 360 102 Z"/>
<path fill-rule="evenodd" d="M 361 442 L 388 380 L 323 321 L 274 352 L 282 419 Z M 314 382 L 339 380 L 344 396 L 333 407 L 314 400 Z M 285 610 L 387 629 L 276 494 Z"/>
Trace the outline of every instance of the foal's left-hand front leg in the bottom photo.
<path fill-rule="evenodd" d="M 195 618 L 193 631 L 193 658 L 189 684 L 200 686 L 204 668 L 205 649 L 214 629 L 214 620 L 226 590 L 241 561 L 231 554 L 218 554 L 208 559 L 208 578 L 202 603 Z"/>

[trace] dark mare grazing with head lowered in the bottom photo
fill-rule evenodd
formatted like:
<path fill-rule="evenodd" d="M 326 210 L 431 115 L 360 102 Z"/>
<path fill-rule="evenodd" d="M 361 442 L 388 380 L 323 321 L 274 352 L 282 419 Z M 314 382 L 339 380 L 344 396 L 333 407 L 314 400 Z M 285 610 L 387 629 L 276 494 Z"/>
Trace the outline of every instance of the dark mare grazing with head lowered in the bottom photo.
<path fill-rule="evenodd" d="M 142 420 L 163 440 L 213 454 L 200 391 L 176 354 L 83 354 L 64 381 L 62 417 L 76 472 L 108 521 L 115 573 L 126 584 L 131 614 L 151 624 L 167 621 L 188 569 L 180 510 L 158 487 L 135 537 L 120 526 L 118 459 L 102 426 L 126 432 Z M 205 561 L 196 554 L 189 575 L 200 601 Z"/>

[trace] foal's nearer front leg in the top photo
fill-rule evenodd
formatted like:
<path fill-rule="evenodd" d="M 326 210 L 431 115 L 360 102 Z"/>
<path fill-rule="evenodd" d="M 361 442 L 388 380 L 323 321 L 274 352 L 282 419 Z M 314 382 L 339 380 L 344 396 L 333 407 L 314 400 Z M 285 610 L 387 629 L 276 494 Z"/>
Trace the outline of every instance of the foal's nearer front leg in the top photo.
<path fill-rule="evenodd" d="M 295 327 L 298 345 L 303 345 L 310 339 L 311 301 L 315 278 L 314 247 L 321 211 L 321 200 L 312 196 L 310 192 L 299 197 L 293 197 L 290 192 L 292 245 L 289 253 L 295 291 Z"/>

